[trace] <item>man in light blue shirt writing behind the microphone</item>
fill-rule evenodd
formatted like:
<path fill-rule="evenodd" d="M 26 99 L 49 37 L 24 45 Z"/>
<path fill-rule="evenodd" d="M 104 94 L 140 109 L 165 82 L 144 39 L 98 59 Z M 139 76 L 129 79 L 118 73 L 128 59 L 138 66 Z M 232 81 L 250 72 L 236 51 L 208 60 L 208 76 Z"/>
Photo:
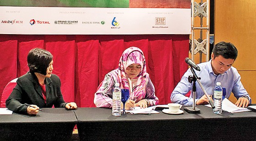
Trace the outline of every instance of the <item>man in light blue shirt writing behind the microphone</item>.
<path fill-rule="evenodd" d="M 201 83 L 205 91 L 213 96 L 213 89 L 216 82 L 221 82 L 221 87 L 226 88 L 226 98 L 229 98 L 231 92 L 237 98 L 235 105 L 239 107 L 247 107 L 251 103 L 251 97 L 245 90 L 240 79 L 240 74 L 233 67 L 233 63 L 237 57 L 237 49 L 232 43 L 224 41 L 219 42 L 213 48 L 212 59 L 208 62 L 198 64 L 201 71 L 195 71 L 198 77 L 201 77 Z M 193 76 L 190 69 L 182 76 L 181 81 L 177 84 L 171 93 L 171 101 L 182 105 L 192 105 L 192 83 L 188 82 L 188 76 Z M 196 82 L 196 105 L 208 104 L 208 99 L 204 95 L 198 82 Z M 190 97 L 185 96 L 191 91 Z"/>

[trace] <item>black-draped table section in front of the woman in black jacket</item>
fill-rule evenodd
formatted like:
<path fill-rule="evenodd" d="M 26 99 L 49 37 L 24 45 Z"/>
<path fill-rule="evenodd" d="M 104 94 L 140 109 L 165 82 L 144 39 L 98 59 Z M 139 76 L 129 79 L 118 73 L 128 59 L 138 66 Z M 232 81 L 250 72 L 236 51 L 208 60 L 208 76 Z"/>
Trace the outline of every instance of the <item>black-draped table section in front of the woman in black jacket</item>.
<path fill-rule="evenodd" d="M 70 141 L 77 120 L 73 110 L 43 108 L 37 116 L 0 115 L 0 141 Z"/>

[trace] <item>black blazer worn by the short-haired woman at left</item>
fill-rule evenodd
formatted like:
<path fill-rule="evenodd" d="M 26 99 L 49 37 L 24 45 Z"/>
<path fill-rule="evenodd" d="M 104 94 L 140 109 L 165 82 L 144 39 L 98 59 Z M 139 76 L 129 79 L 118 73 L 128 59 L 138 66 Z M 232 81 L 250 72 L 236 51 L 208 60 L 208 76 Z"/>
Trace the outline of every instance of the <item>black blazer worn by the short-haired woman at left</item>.
<path fill-rule="evenodd" d="M 17 80 L 17 85 L 6 100 L 6 107 L 16 113 L 27 114 L 27 104 L 37 105 L 40 108 L 65 107 L 60 91 L 59 77 L 52 74 L 50 78 L 45 78 L 46 103 L 43 99 L 42 88 L 34 73 L 28 72 Z"/>

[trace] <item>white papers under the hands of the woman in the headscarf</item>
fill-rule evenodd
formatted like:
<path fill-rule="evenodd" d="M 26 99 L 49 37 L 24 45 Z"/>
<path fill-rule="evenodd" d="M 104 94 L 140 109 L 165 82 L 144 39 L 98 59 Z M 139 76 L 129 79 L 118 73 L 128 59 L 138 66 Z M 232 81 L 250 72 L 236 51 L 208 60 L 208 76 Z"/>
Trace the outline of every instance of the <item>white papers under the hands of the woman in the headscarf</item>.
<path fill-rule="evenodd" d="M 134 107 L 133 110 L 126 110 L 126 112 L 129 112 L 132 114 L 157 114 L 157 113 L 160 113 L 159 111 L 155 111 L 155 108 L 157 107 L 168 108 L 168 105 L 157 105 L 157 106 L 150 106 L 147 108 Z"/>

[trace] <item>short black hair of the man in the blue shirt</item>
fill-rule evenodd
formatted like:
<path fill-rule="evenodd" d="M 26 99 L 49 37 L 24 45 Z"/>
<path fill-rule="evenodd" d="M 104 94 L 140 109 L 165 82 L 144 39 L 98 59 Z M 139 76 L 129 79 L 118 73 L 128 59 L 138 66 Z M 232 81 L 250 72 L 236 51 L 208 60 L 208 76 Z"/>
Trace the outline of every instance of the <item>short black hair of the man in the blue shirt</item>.
<path fill-rule="evenodd" d="M 213 59 L 218 57 L 219 55 L 223 56 L 225 59 L 236 59 L 237 57 L 237 49 L 235 45 L 230 42 L 221 41 L 214 45 L 213 47 Z"/>

